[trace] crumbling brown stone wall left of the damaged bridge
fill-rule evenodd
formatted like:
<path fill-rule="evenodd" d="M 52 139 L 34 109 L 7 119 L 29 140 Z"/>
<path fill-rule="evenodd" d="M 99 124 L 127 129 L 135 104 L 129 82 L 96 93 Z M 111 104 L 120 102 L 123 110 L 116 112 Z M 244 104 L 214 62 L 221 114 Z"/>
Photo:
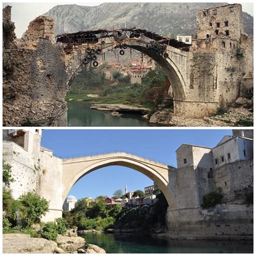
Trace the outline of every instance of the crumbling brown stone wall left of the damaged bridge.
<path fill-rule="evenodd" d="M 10 10 L 3 9 L 11 35 L 3 45 L 3 125 L 65 126 L 65 61 L 62 46 L 53 42 L 54 21 L 39 16 L 17 39 Z"/>

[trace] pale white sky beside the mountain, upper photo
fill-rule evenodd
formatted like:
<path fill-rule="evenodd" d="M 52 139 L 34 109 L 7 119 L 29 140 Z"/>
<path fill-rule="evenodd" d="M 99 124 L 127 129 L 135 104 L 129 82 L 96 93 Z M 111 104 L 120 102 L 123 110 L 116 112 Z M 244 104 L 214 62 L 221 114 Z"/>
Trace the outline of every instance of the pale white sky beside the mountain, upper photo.
<path fill-rule="evenodd" d="M 38 17 L 39 15 L 44 14 L 45 12 L 49 11 L 51 8 L 53 8 L 56 5 L 61 4 L 78 4 L 78 5 L 86 5 L 86 6 L 95 6 L 99 5 L 103 2 L 120 2 L 120 1 L 88 1 L 86 3 L 83 2 L 64 2 L 64 1 L 55 1 L 54 3 L 48 3 L 48 1 L 45 1 L 44 3 L 22 3 L 19 1 L 15 2 L 8 2 L 3 3 L 3 7 L 6 5 L 12 6 L 12 21 L 15 22 L 16 26 L 16 36 L 20 38 L 22 34 L 26 31 L 28 28 L 29 22 L 31 22 L 33 19 Z M 128 2 L 140 2 L 140 1 L 128 1 Z M 144 1 L 144 2 L 157 2 L 157 1 Z M 164 1 L 165 2 L 165 1 Z M 169 1 L 167 1 L 169 2 Z M 170 1 L 170 2 L 178 2 L 178 1 Z M 180 1 L 180 2 L 186 2 L 186 1 Z M 221 2 L 221 1 L 200 1 L 200 2 Z M 222 1 L 223 2 L 223 1 Z M 224 1 L 225 2 L 225 1 Z M 253 3 L 248 3 L 249 1 L 239 1 L 237 3 L 242 4 L 242 10 L 247 12 L 248 14 L 253 16 Z M 233 3 L 233 2 L 228 2 Z"/>

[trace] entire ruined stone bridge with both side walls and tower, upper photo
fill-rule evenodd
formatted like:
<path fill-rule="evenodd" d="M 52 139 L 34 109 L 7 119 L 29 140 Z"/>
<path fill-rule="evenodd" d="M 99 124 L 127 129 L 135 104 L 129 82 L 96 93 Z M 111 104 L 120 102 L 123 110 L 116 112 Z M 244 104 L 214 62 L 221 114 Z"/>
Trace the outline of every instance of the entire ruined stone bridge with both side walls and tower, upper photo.
<path fill-rule="evenodd" d="M 10 6 L 6 8 L 4 13 L 10 11 Z M 7 16 L 3 22 L 11 24 Z M 39 121 L 40 109 L 49 114 L 40 121 L 63 125 L 65 94 L 80 70 L 98 66 L 107 51 L 119 58 L 130 54 L 129 48 L 163 68 L 174 95 L 174 115 L 203 118 L 233 103 L 253 90 L 253 38 L 244 33 L 241 5 L 199 10 L 197 22 L 198 35 L 192 44 L 136 27 L 63 33 L 54 43 L 53 19 L 39 16 L 22 39 L 14 35 L 4 45 L 4 60 L 15 59 L 22 67 L 12 64 L 11 76 L 4 71 L 4 125 L 20 125 L 28 116 Z M 26 90 L 20 90 L 23 87 Z M 21 104 L 23 98 L 28 102 Z M 21 116 L 10 120 L 17 107 Z"/>

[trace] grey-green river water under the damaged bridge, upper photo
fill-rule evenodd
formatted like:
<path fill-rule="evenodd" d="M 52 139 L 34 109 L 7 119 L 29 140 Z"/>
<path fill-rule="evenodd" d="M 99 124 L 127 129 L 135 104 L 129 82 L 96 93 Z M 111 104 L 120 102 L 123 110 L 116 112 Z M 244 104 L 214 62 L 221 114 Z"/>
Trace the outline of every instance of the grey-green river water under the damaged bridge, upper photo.
<path fill-rule="evenodd" d="M 112 117 L 111 113 L 90 109 L 86 102 L 68 102 L 68 126 L 156 126 L 140 114 L 125 113 Z"/>

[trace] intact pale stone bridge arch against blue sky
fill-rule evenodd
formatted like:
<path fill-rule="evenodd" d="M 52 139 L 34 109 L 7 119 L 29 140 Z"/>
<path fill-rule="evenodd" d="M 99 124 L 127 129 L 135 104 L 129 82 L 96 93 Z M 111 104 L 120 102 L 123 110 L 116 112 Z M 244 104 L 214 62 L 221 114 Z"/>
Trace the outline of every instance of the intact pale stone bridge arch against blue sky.
<path fill-rule="evenodd" d="M 106 166 L 124 166 L 143 173 L 152 179 L 164 193 L 169 208 L 176 209 L 176 192 L 169 183 L 169 166 L 127 153 L 112 153 L 93 157 L 63 160 L 62 203 L 69 191 L 86 174 Z"/>

